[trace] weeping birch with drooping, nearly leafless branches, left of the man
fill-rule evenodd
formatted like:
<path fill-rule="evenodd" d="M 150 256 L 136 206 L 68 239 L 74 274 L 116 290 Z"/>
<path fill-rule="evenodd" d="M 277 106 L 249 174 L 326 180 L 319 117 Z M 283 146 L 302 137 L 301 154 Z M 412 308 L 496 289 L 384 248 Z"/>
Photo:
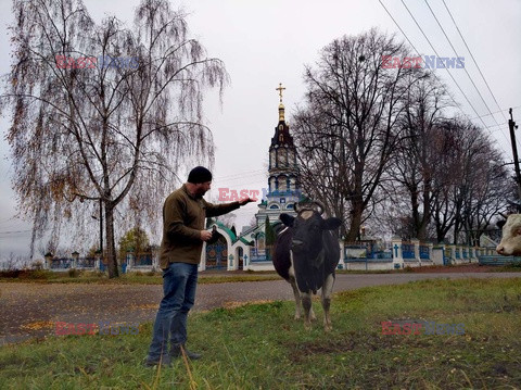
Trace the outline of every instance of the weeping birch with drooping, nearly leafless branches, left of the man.
<path fill-rule="evenodd" d="M 223 91 L 228 75 L 167 0 L 142 0 L 132 30 L 115 17 L 97 26 L 80 0 L 14 1 L 14 12 L 2 108 L 12 109 L 13 188 L 34 219 L 33 242 L 52 226 L 55 247 L 63 224 L 90 218 L 100 201 L 115 277 L 116 211 L 154 225 L 177 172 L 213 163 L 203 92 Z"/>

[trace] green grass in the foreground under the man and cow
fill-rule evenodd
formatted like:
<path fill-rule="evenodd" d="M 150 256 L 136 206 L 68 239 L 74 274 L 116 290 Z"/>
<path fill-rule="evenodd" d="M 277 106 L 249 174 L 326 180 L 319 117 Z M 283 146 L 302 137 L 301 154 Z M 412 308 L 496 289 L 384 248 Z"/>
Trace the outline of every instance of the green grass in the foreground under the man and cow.
<path fill-rule="evenodd" d="M 423 280 L 335 294 L 310 331 L 291 302 L 195 313 L 203 358 L 142 366 L 139 335 L 63 336 L 0 349 L 1 389 L 514 389 L 521 387 L 519 279 Z M 382 335 L 382 322 L 465 324 L 465 335 Z"/>

